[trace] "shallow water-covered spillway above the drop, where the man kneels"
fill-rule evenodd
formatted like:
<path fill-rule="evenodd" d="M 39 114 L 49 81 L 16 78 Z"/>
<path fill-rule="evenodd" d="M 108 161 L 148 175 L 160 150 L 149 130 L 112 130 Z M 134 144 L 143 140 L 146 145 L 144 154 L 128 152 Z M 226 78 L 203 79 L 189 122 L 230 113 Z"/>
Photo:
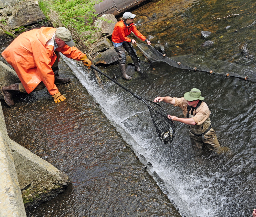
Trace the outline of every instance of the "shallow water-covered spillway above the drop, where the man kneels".
<path fill-rule="evenodd" d="M 71 184 L 27 216 L 180 216 L 99 105 L 61 62 L 58 85 L 67 98 L 54 103 L 47 90 L 1 100 L 7 131 L 66 173 Z"/>

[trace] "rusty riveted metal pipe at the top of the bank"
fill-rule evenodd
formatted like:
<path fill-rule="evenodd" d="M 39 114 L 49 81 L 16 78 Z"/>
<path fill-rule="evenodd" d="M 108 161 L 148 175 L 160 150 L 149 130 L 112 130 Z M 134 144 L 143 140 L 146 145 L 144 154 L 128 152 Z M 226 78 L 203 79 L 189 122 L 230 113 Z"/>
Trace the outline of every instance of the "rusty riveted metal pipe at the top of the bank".
<path fill-rule="evenodd" d="M 113 14 L 116 17 L 121 16 L 126 11 L 132 10 L 151 0 L 103 0 L 103 2 L 95 5 L 98 17 L 103 14 Z"/>

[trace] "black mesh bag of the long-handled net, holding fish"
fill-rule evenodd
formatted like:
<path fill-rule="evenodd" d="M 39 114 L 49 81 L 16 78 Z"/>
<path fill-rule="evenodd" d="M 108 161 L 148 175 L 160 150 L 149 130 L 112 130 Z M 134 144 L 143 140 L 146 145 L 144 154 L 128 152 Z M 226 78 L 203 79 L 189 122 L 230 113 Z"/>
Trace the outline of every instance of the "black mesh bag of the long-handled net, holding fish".
<path fill-rule="evenodd" d="M 175 124 L 173 120 L 167 117 L 167 112 L 157 103 L 149 100 L 144 100 L 144 102 L 148 106 L 159 139 L 164 144 L 171 143 L 175 134 Z"/>

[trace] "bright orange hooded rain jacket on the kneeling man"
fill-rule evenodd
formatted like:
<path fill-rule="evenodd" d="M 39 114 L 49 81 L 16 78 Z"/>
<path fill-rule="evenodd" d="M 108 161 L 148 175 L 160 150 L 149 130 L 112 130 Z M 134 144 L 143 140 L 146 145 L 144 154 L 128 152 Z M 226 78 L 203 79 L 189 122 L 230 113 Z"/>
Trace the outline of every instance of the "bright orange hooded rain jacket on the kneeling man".
<path fill-rule="evenodd" d="M 51 27 L 24 32 L 2 52 L 2 56 L 14 68 L 27 93 L 34 90 L 41 81 L 51 95 L 58 93 L 51 68 L 57 57 L 54 46 L 46 45 L 55 32 L 56 29 Z M 74 60 L 81 60 L 85 55 L 77 48 L 67 45 L 55 51 Z"/>

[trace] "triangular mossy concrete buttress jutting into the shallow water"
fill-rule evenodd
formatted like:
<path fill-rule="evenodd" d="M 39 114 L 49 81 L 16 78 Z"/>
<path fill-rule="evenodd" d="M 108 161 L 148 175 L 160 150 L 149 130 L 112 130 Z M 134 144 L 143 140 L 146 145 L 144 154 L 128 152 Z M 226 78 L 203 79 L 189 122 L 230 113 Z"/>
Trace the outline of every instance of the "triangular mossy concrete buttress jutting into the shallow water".
<path fill-rule="evenodd" d="M 70 183 L 67 175 L 13 140 L 11 150 L 25 209 L 52 199 Z"/>

